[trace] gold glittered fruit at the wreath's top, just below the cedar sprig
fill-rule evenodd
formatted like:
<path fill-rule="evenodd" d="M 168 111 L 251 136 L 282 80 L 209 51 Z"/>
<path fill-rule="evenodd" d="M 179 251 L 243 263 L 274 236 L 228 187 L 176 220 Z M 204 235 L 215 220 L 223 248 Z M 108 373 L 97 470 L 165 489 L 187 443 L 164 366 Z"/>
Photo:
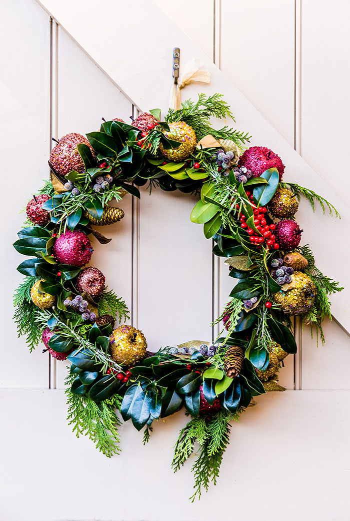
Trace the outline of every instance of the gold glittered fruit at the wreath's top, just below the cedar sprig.
<path fill-rule="evenodd" d="M 166 137 L 173 139 L 174 141 L 180 141 L 181 145 L 178 146 L 178 148 L 167 149 L 160 143 L 159 151 L 170 161 L 183 161 L 192 154 L 196 147 L 197 138 L 195 131 L 184 121 L 174 121 L 173 123 L 169 123 L 169 128 L 170 131 L 164 131 Z"/>

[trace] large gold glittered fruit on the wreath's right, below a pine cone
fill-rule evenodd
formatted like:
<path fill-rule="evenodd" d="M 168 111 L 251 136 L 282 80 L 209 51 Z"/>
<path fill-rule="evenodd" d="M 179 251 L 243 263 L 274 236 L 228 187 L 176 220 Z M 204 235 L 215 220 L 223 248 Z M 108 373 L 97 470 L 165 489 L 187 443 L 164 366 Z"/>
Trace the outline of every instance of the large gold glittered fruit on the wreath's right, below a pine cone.
<path fill-rule="evenodd" d="M 295 287 L 289 291 L 280 290 L 273 300 L 281 306 L 285 315 L 304 315 L 315 303 L 316 286 L 308 275 L 294 271 Z"/>

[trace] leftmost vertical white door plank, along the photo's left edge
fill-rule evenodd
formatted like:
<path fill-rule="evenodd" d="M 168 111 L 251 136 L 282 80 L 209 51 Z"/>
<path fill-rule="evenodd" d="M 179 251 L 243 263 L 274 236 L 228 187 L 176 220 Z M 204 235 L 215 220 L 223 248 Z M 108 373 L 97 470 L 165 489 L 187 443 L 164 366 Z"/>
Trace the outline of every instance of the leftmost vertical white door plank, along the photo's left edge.
<path fill-rule="evenodd" d="M 20 16 L 19 16 L 20 14 Z M 2 243 L 0 324 L 3 339 L 0 387 L 46 388 L 48 356 L 41 346 L 29 354 L 17 339 L 12 321 L 12 294 L 23 277 L 15 270 L 26 257 L 12 249 L 25 213 L 21 208 L 48 174 L 49 154 L 49 17 L 36 2 L 18 0 L 2 5 L 0 17 L 0 153 L 5 188 L 1 194 Z"/>

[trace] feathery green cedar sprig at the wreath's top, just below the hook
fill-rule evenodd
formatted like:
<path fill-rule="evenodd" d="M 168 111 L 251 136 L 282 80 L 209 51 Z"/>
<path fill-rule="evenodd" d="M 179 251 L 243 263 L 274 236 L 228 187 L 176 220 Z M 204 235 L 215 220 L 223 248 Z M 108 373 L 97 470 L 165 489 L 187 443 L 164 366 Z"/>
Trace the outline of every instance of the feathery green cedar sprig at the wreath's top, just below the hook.
<path fill-rule="evenodd" d="M 184 121 L 193 128 L 198 141 L 207 134 L 211 134 L 216 139 L 231 139 L 237 145 L 249 141 L 248 133 L 230 129 L 228 126 L 216 130 L 209 124 L 209 119 L 212 116 L 219 119 L 228 117 L 234 121 L 230 106 L 222 100 L 222 94 L 213 94 L 208 97 L 203 93 L 198 94 L 197 102 L 190 99 L 184 101 L 181 105 L 182 108 L 179 110 L 169 109 L 165 120 L 167 123 Z"/>

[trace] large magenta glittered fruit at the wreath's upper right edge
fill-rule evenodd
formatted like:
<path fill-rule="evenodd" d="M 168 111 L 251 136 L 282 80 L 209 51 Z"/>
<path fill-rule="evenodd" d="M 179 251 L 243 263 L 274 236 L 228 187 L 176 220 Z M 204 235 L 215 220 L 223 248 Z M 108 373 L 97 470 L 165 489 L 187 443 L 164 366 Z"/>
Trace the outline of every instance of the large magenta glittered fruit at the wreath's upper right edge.
<path fill-rule="evenodd" d="M 238 166 L 245 166 L 253 172 L 252 177 L 261 176 L 262 172 L 269 168 L 277 168 L 280 181 L 283 177 L 284 165 L 280 156 L 272 152 L 266 146 L 252 146 L 241 155 Z"/>

